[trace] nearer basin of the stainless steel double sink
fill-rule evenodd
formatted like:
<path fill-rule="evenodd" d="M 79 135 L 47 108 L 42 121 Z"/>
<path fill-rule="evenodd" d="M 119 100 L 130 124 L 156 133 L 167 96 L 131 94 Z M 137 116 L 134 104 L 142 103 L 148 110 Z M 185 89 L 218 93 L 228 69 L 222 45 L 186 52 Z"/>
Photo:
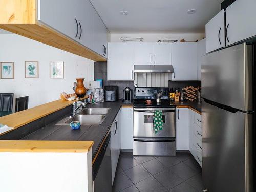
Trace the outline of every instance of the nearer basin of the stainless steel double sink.
<path fill-rule="evenodd" d="M 64 123 L 70 124 L 72 121 L 79 121 L 81 125 L 99 125 L 105 120 L 105 115 L 76 115 L 69 118 Z"/>

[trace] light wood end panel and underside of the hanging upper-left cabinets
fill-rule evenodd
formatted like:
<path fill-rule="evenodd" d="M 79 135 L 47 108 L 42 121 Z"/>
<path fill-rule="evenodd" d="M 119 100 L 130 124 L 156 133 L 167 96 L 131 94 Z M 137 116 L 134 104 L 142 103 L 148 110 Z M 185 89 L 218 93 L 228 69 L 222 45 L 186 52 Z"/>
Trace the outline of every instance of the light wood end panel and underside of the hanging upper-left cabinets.
<path fill-rule="evenodd" d="M 106 58 L 37 20 L 36 0 L 1 0 L 0 28 L 94 61 Z"/>

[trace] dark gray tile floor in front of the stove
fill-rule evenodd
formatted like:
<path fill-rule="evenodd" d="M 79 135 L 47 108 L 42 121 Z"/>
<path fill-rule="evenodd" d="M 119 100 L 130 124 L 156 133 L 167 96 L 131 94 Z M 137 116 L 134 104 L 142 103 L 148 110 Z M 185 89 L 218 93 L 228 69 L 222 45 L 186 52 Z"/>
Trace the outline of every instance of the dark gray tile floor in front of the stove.
<path fill-rule="evenodd" d="M 114 192 L 202 192 L 202 169 L 190 153 L 176 156 L 119 157 Z"/>

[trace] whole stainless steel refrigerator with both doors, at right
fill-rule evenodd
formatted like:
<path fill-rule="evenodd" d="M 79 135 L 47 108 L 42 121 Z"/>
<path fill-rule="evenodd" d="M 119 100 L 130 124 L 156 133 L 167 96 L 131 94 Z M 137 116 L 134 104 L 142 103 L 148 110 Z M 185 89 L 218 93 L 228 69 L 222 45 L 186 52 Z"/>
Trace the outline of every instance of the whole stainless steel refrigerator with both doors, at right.
<path fill-rule="evenodd" d="M 252 192 L 254 46 L 207 54 L 202 63 L 202 177 L 208 192 Z"/>

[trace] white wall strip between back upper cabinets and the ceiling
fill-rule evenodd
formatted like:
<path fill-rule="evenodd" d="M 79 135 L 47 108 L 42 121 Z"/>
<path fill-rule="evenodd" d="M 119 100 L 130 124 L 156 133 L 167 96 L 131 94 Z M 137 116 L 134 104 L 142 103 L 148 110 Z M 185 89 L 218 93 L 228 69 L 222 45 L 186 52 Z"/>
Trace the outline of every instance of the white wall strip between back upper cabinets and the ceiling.
<path fill-rule="evenodd" d="M 204 33 L 133 33 L 133 34 L 123 34 L 123 33 L 111 33 L 110 42 L 122 42 L 121 37 L 139 37 L 144 38 L 143 42 L 157 42 L 158 40 L 170 39 L 178 40 L 185 39 L 187 41 L 201 40 L 205 37 Z"/>

